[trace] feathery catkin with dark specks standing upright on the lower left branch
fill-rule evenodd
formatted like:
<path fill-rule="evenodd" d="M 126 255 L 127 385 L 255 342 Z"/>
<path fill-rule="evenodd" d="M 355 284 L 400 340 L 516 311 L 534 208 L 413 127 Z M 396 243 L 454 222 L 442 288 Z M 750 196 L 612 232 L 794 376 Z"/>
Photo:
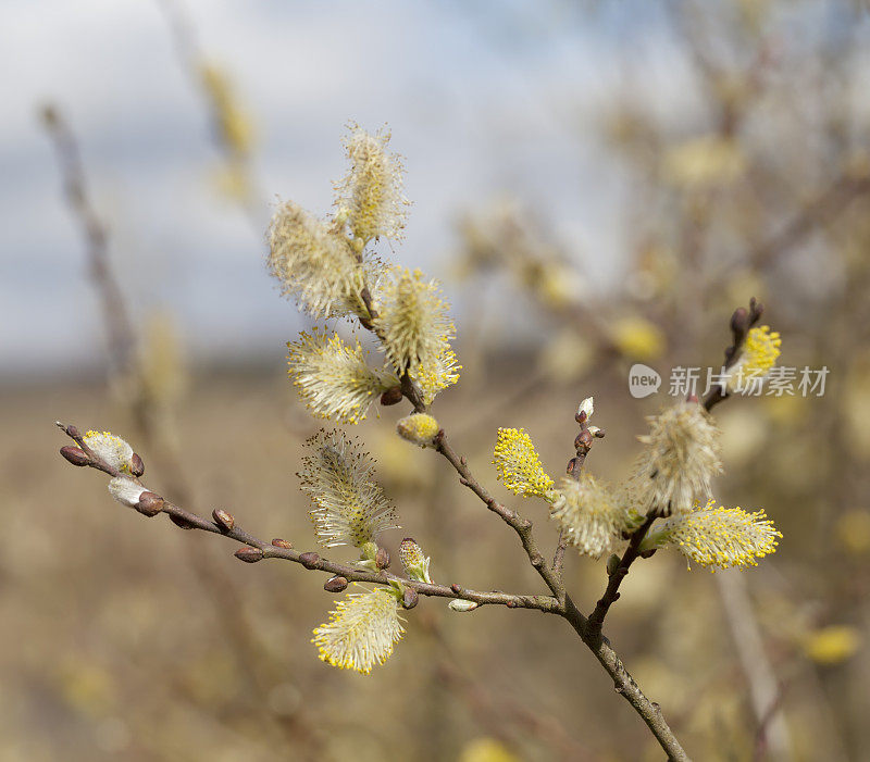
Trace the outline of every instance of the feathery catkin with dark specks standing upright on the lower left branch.
<path fill-rule="evenodd" d="M 385 529 L 397 528 L 396 512 L 374 480 L 374 463 L 344 432 L 321 430 L 306 442 L 300 489 L 313 503 L 318 542 L 326 548 L 362 548 Z"/>

